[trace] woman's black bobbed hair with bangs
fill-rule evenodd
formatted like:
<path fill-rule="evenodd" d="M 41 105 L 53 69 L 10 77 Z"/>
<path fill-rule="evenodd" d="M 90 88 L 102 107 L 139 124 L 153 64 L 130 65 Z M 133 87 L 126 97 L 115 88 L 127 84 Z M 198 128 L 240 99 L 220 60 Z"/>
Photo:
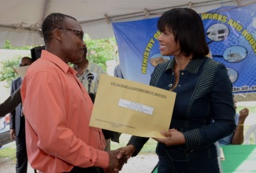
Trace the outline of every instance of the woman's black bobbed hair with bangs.
<path fill-rule="evenodd" d="M 158 30 L 165 28 L 180 43 L 180 53 L 192 59 L 203 58 L 209 53 L 202 19 L 193 9 L 176 8 L 163 13 L 158 20 Z"/>

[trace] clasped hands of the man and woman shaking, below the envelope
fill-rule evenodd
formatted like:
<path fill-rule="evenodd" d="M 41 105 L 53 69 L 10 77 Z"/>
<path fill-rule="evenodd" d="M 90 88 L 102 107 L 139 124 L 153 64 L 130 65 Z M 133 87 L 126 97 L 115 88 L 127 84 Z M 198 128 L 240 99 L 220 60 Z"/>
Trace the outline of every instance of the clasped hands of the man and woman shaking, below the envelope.
<path fill-rule="evenodd" d="M 107 151 L 109 153 L 109 167 L 106 168 L 108 173 L 116 173 L 121 171 L 124 164 L 135 152 L 133 145 L 127 145 L 113 151 Z"/>

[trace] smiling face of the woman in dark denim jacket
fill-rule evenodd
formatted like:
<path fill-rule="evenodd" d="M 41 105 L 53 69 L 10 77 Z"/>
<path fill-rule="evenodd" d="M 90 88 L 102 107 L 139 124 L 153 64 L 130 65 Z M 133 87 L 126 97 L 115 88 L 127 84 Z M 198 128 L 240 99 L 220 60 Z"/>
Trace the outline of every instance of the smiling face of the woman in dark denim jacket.
<path fill-rule="evenodd" d="M 164 56 L 177 56 L 180 54 L 180 44 L 175 42 L 174 35 L 166 27 L 165 31 L 161 32 L 158 37 L 159 49 Z"/>

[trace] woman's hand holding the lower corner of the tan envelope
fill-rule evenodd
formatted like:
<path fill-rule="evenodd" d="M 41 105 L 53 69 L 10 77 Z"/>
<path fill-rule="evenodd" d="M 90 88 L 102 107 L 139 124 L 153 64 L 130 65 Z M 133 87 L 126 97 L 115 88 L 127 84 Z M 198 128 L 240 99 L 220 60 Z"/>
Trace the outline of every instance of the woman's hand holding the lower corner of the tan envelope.
<path fill-rule="evenodd" d="M 161 131 L 161 134 L 163 134 L 166 138 L 153 139 L 156 140 L 157 142 L 164 143 L 167 146 L 182 145 L 186 142 L 184 134 L 182 134 L 180 131 L 177 131 L 176 129 L 169 129 L 169 131 Z"/>

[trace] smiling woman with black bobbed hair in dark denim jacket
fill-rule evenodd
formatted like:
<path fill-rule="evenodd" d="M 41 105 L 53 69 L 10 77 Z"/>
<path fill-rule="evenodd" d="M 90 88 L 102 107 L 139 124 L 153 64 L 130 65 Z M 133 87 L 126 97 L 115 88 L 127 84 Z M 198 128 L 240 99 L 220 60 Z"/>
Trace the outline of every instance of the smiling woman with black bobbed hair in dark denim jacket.
<path fill-rule="evenodd" d="M 227 70 L 205 57 L 205 31 L 193 9 L 170 9 L 158 20 L 158 30 L 161 54 L 174 58 L 158 64 L 150 85 L 176 93 L 169 131 L 161 132 L 166 138 L 154 138 L 158 172 L 222 172 L 217 141 L 236 128 Z M 148 139 L 132 136 L 119 156 L 136 156 Z"/>

